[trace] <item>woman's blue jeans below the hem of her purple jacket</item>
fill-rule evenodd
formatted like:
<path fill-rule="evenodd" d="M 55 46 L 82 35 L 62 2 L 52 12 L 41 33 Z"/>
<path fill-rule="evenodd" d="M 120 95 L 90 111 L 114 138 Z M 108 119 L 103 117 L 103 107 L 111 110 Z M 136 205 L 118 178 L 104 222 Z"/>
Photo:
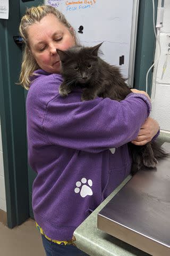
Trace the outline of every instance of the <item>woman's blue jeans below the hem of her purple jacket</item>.
<path fill-rule="evenodd" d="M 43 246 L 47 256 L 88 256 L 74 245 L 61 245 L 49 241 L 42 235 Z"/>

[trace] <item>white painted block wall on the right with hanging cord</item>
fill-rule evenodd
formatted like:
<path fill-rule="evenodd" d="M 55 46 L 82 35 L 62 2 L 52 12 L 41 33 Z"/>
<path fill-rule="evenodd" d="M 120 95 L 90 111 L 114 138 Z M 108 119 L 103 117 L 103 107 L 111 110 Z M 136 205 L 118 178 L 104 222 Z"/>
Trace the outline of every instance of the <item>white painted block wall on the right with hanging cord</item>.
<path fill-rule="evenodd" d="M 161 1 L 159 0 L 158 6 Z M 170 1 L 164 2 L 164 20 L 163 28 L 160 30 L 160 44 L 162 53 L 158 63 L 158 69 L 156 74 L 156 93 L 155 99 L 152 103 L 151 117 L 155 118 L 160 125 L 160 129 L 170 132 L 170 51 L 168 55 L 167 67 L 163 76 L 163 66 L 167 57 L 167 35 L 170 36 Z M 169 37 L 170 43 L 170 37 Z M 169 47 L 170 48 L 170 47 Z M 156 45 L 155 60 L 158 57 L 158 44 Z M 155 76 L 156 68 L 154 70 Z M 153 80 L 152 95 L 154 97 L 155 81 Z"/>

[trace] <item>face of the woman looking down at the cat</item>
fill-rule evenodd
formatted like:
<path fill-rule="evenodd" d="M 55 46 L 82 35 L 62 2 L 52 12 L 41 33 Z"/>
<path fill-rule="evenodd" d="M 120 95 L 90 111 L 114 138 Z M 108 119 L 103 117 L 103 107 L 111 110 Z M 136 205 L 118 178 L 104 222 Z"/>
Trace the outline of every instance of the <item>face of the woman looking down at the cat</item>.
<path fill-rule="evenodd" d="M 53 14 L 28 27 L 30 50 L 38 66 L 49 73 L 60 73 L 60 57 L 56 49 L 67 50 L 75 45 L 68 28 Z"/>

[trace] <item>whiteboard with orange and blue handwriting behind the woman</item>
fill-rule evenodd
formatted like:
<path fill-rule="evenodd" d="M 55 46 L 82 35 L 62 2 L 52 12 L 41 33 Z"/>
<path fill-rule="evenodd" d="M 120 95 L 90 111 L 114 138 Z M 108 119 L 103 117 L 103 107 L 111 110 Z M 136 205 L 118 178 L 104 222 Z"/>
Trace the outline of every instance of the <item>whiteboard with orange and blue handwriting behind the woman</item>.
<path fill-rule="evenodd" d="M 120 66 L 132 85 L 138 0 L 45 0 L 44 3 L 65 15 L 82 45 L 104 42 L 100 47 L 104 55 L 100 57 L 111 65 Z M 80 26 L 83 26 L 82 34 Z M 120 65 L 122 56 L 124 63 Z"/>

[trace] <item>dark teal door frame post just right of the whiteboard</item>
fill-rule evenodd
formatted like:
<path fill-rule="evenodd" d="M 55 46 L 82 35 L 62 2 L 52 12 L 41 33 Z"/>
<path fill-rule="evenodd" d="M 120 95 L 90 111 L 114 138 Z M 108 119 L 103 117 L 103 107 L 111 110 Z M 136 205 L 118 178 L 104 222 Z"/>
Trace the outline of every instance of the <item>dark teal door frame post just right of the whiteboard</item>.
<path fill-rule="evenodd" d="M 158 0 L 155 3 L 155 21 L 157 17 Z M 146 91 L 146 75 L 148 69 L 154 63 L 156 38 L 152 25 L 152 1 L 139 1 L 139 16 L 138 16 L 138 32 L 137 45 L 135 54 L 134 66 L 134 81 L 135 89 Z M 151 96 L 152 87 L 152 69 L 148 76 L 148 94 Z"/>

